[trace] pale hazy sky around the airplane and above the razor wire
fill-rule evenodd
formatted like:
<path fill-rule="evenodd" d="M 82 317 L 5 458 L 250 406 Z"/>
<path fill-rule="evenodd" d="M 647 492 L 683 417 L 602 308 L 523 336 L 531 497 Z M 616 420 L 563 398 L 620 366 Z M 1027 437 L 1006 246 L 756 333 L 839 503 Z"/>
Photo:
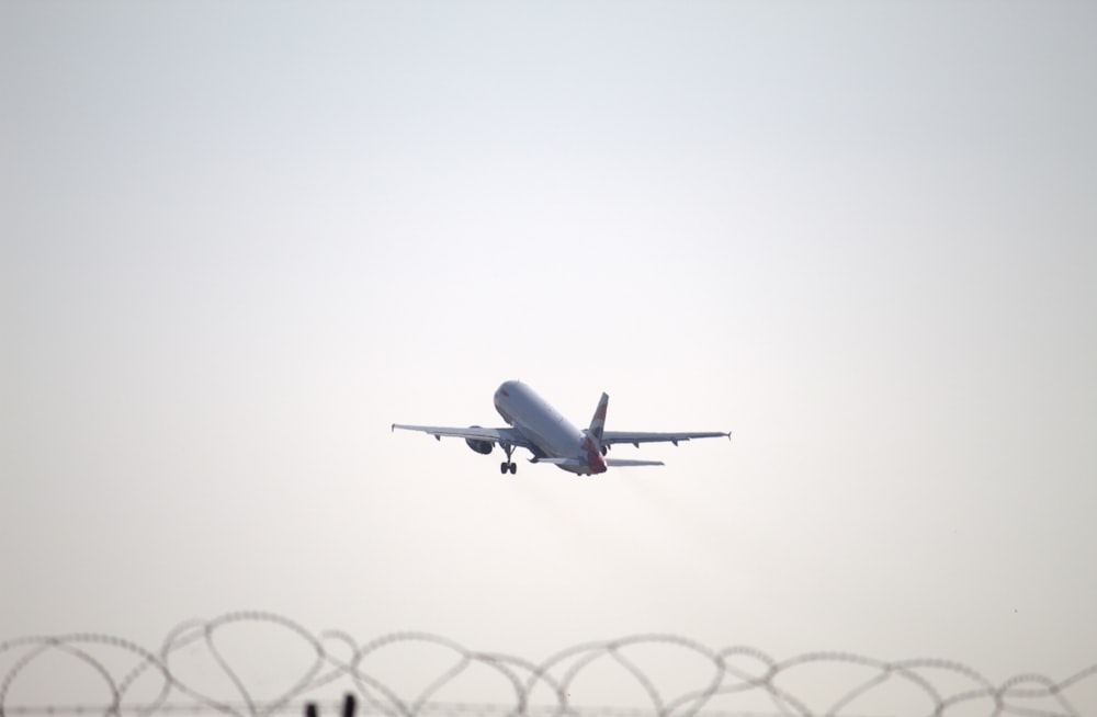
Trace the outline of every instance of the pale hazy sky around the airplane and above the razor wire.
<path fill-rule="evenodd" d="M 0 3 L 0 637 L 1097 661 L 1097 5 Z M 732 430 L 576 478 L 394 421 Z"/>

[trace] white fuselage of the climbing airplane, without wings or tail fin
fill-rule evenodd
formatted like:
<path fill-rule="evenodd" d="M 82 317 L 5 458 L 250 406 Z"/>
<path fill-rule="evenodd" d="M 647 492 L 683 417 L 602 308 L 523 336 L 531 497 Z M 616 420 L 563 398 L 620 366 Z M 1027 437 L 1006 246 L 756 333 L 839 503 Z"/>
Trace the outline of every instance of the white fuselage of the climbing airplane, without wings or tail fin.
<path fill-rule="evenodd" d="M 606 459 L 590 439 L 520 380 L 508 380 L 495 391 L 499 416 L 538 447 L 536 458 L 574 458 L 558 465 L 576 474 L 606 471 Z"/>

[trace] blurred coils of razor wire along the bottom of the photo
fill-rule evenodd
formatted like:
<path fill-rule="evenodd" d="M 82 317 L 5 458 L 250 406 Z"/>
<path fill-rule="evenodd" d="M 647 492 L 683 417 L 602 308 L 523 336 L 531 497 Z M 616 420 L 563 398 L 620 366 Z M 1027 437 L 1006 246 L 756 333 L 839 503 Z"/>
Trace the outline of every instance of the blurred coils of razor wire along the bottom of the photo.
<path fill-rule="evenodd" d="M 257 646 L 242 657 L 240 650 L 231 655 L 228 639 L 241 631 L 250 631 L 251 638 L 276 635 L 280 650 Z M 286 638 L 295 645 L 292 660 L 283 655 Z M 427 659 L 409 664 L 408 648 Z M 666 653 L 664 662 L 678 656 L 669 658 L 675 667 L 653 667 L 653 650 Z M 687 656 L 689 669 L 682 667 Z M 430 671 L 431 660 L 442 662 L 437 672 Z M 278 670 L 271 665 L 293 661 L 298 663 L 294 675 L 272 676 Z M 264 676 L 264 669 L 271 674 Z M 395 678 L 385 674 L 394 671 L 399 673 Z M 642 704 L 592 705 L 573 698 L 580 685 L 610 673 L 632 685 L 630 694 L 642 696 Z M 409 675 L 417 685 L 406 684 Z M 669 688 L 668 676 L 690 684 Z M 485 680 L 490 690 L 484 688 Z M 808 686 L 798 686 L 798 681 Z M 490 696 L 453 698 L 475 688 Z M 1061 680 L 1033 673 L 994 684 L 948 660 L 889 661 L 847 652 L 778 660 L 751 647 L 712 649 L 676 635 L 591 641 L 532 661 L 471 650 L 427 633 L 392 633 L 360 642 L 344 631 L 313 633 L 263 612 L 188 621 L 156 651 L 93 633 L 0 641 L 0 717 L 272 717 L 303 714 L 309 703 L 333 705 L 332 694 L 339 693 L 357 695 L 362 713 L 384 717 L 1078 717 L 1097 714 L 1097 663 Z M 331 708 L 320 714 L 330 715 Z"/>

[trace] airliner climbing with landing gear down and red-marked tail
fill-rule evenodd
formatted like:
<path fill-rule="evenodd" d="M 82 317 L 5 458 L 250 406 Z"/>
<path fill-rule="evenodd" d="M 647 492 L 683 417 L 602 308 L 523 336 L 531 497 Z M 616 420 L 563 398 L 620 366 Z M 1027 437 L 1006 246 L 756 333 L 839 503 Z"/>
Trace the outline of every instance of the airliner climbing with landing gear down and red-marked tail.
<path fill-rule="evenodd" d="M 509 428 L 484 429 L 472 425 L 467 429 L 439 425 L 406 425 L 393 423 L 404 431 L 420 431 L 441 441 L 442 436 L 464 439 L 476 453 L 488 455 L 495 444 L 507 454 L 499 465 L 499 473 L 514 475 L 518 466 L 511 460 L 516 448 L 525 448 L 533 454 L 530 463 L 547 463 L 562 470 L 579 476 L 606 473 L 607 468 L 625 466 L 661 466 L 661 460 L 631 460 L 607 458 L 606 453 L 614 443 L 631 443 L 637 448 L 641 443 L 670 442 L 691 439 L 714 439 L 732 434 L 727 431 L 703 431 L 691 433 L 635 433 L 627 431 L 606 431 L 606 409 L 610 397 L 602 394 L 590 419 L 590 426 L 580 431 L 559 411 L 541 398 L 532 388 L 520 380 L 504 382 L 495 391 L 495 409 L 499 411 Z"/>

